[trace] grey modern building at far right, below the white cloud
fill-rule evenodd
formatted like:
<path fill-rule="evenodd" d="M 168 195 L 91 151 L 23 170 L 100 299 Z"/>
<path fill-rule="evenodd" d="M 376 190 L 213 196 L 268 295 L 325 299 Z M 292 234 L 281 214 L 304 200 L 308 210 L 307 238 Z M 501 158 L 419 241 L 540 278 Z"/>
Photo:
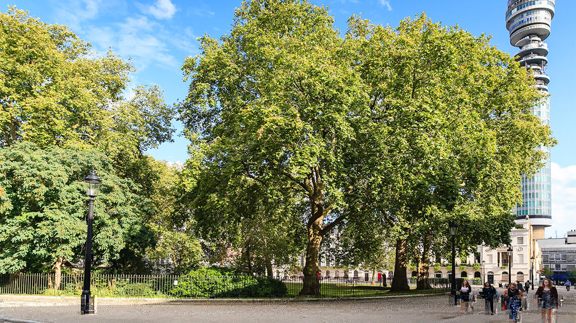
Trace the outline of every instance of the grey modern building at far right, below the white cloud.
<path fill-rule="evenodd" d="M 569 272 L 576 269 L 576 230 L 569 231 L 566 238 L 539 239 L 542 248 L 542 264 L 552 269 L 552 279 L 566 282 Z"/>

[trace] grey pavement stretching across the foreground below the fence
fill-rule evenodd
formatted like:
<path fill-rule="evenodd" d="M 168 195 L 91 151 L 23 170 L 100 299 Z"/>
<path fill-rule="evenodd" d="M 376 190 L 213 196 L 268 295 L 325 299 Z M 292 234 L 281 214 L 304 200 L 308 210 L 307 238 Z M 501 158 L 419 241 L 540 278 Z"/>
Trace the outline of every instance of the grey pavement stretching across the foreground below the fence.
<path fill-rule="evenodd" d="M 498 290 L 502 294 L 501 289 Z M 477 290 L 476 290 L 477 292 Z M 556 311 L 556 322 L 576 322 L 576 292 L 566 293 Z M 532 299 L 533 291 L 529 292 Z M 460 315 L 460 306 L 449 305 L 447 295 L 394 297 L 386 299 L 343 299 L 332 301 L 251 301 L 181 299 L 97 298 L 96 314 L 80 315 L 79 298 L 0 295 L 0 322 L 510 322 L 506 312 L 484 315 L 484 303 L 476 302 L 472 314 Z M 540 323 L 540 313 L 530 308 L 523 323 Z M 495 306 L 494 307 L 498 307 Z"/>

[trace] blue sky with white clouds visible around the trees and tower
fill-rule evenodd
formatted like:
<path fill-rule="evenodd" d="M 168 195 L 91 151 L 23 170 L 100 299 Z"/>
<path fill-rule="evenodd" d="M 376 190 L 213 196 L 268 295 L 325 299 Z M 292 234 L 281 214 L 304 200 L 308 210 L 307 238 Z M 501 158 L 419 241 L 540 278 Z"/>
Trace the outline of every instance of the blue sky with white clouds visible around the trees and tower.
<path fill-rule="evenodd" d="M 196 38 L 204 33 L 219 37 L 230 31 L 234 9 L 240 0 L 12 0 L 11 5 L 29 10 L 51 24 L 65 24 L 96 50 L 108 48 L 131 58 L 137 73 L 131 86 L 158 85 L 172 104 L 187 93 L 180 66 L 187 56 L 198 54 Z M 396 26 L 404 17 L 426 12 L 433 21 L 460 25 L 473 35 L 492 35 L 492 44 L 514 54 L 505 25 L 507 0 L 340 0 L 314 1 L 328 5 L 335 24 L 345 31 L 351 14 L 362 13 L 378 24 Z M 6 10 L 3 9 L 3 10 Z M 576 1 L 556 1 L 552 33 L 545 41 L 548 54 L 548 85 L 551 94 L 550 125 L 558 145 L 552 148 L 552 218 L 547 236 L 562 236 L 576 229 Z M 188 142 L 178 136 L 147 153 L 157 159 L 184 162 Z"/>

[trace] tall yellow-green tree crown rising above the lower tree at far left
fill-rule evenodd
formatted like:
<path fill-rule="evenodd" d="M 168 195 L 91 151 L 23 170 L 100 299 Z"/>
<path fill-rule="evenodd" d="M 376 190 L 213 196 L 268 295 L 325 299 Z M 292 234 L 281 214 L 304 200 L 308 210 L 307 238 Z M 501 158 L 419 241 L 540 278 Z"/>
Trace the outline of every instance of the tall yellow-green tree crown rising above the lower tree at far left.
<path fill-rule="evenodd" d="M 134 154 L 171 140 L 173 108 L 156 86 L 124 100 L 129 62 L 90 44 L 64 25 L 9 7 L 0 13 L 0 146 L 68 143 Z"/>

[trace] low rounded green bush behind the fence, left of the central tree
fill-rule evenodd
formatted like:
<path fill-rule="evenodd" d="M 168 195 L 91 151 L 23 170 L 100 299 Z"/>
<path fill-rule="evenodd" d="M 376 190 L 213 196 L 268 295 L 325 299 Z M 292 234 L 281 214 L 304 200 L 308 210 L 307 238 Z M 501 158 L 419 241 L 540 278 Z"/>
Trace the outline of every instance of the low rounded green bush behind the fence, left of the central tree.
<path fill-rule="evenodd" d="M 280 280 L 267 276 L 233 275 L 218 269 L 199 269 L 183 276 L 170 291 L 181 297 L 284 297 L 287 288 Z"/>

